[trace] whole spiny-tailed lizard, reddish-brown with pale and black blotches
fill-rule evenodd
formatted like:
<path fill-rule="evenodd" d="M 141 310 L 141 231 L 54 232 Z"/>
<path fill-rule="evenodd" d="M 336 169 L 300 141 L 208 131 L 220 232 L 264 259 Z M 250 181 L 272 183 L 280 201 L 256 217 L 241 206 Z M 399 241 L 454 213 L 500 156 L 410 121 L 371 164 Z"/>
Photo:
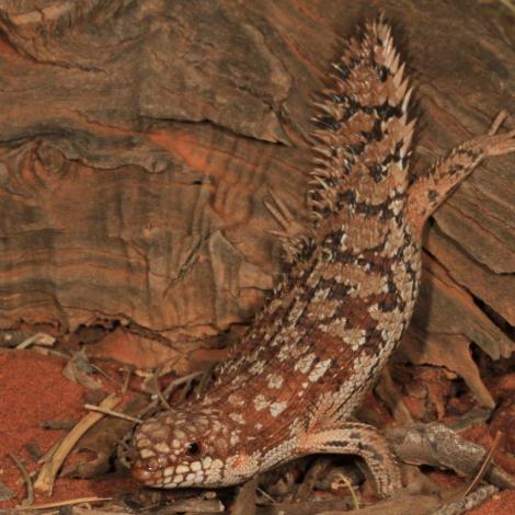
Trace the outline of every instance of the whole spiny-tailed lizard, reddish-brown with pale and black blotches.
<path fill-rule="evenodd" d="M 424 221 L 515 134 L 465 144 L 409 184 L 410 92 L 389 27 L 351 39 L 319 105 L 320 154 L 300 234 L 277 201 L 289 271 L 217 369 L 202 400 L 141 424 L 133 473 L 149 487 L 225 487 L 312 453 L 360 455 L 378 493 L 401 487 L 374 427 L 346 422 L 408 325 L 420 281 Z"/>

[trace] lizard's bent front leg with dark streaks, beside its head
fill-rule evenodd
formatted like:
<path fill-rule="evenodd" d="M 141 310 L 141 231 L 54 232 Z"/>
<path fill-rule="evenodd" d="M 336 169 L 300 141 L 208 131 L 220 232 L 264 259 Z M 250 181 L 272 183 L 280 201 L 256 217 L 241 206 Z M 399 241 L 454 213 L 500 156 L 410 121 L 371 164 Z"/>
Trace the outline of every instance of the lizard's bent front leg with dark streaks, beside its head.
<path fill-rule="evenodd" d="M 311 430 L 301 440 L 301 454 L 351 454 L 363 458 L 377 492 L 388 497 L 402 488 L 399 467 L 386 438 L 376 427 L 355 422 L 331 422 Z"/>

